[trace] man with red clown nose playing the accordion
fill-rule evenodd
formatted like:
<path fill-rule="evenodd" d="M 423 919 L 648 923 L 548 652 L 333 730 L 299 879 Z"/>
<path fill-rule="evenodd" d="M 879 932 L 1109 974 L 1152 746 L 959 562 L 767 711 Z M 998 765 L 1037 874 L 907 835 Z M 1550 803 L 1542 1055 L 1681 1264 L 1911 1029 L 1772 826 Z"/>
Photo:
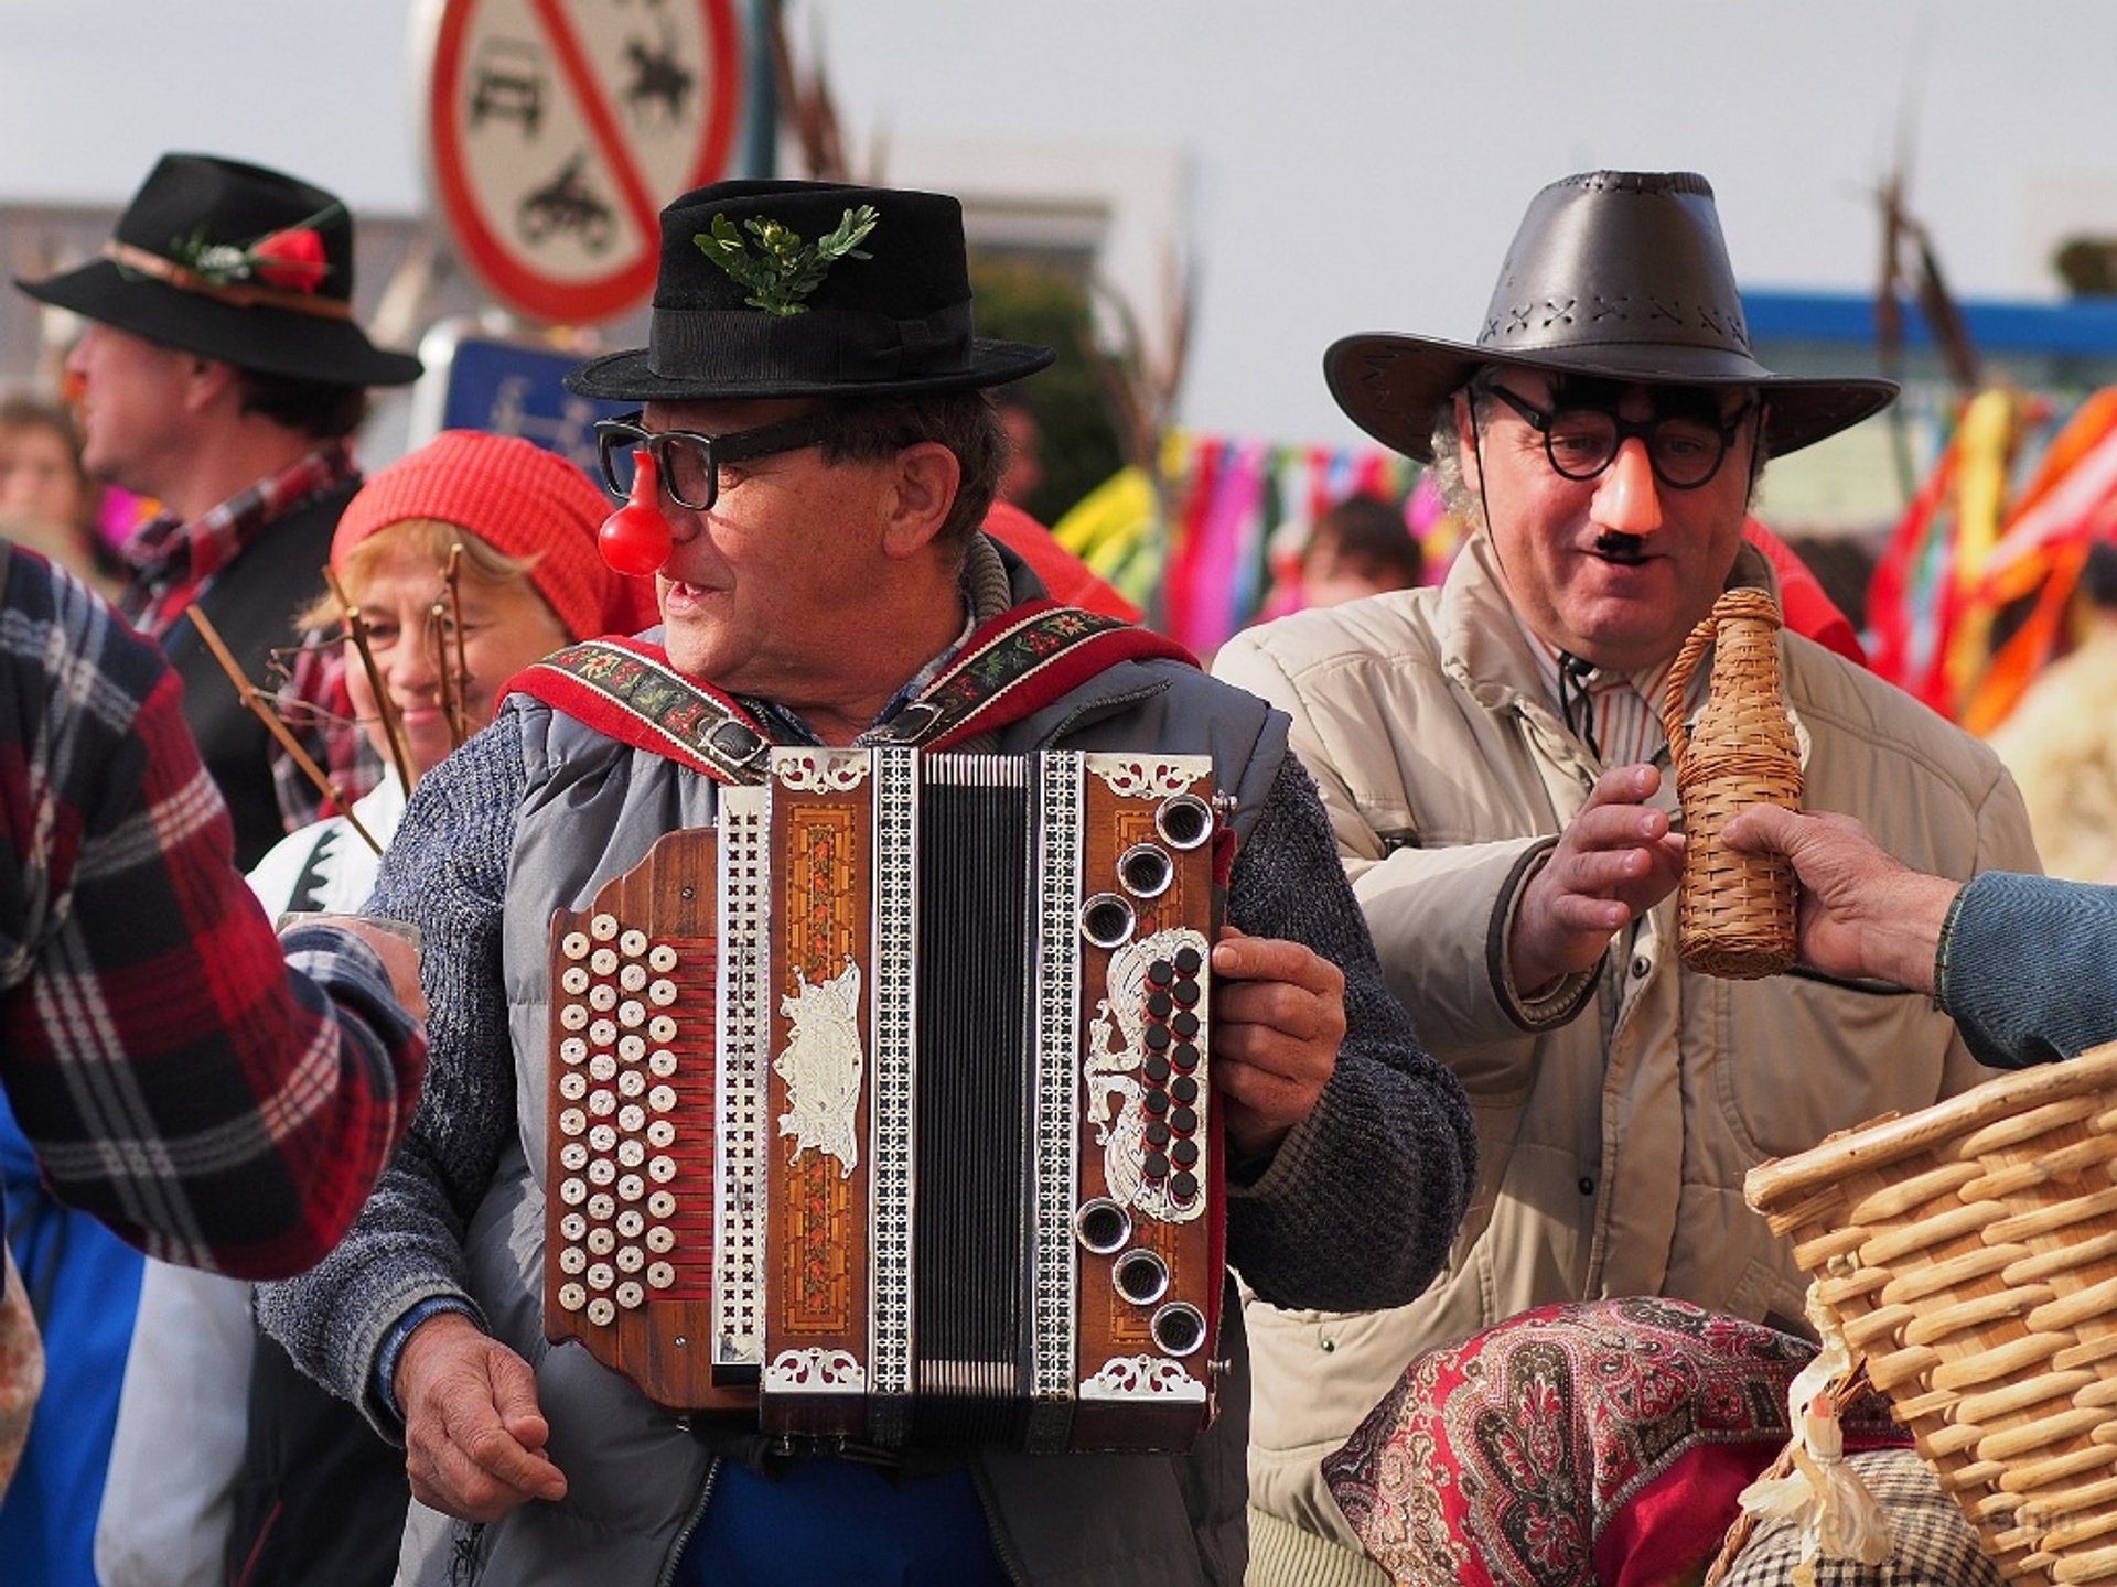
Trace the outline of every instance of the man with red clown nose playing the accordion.
<path fill-rule="evenodd" d="M 1461 1088 L 1380 986 L 1281 717 L 1154 635 L 1039 603 L 978 531 L 1003 459 L 987 389 L 1050 358 L 974 336 L 955 199 L 724 182 L 663 212 L 650 345 L 576 370 L 644 404 L 603 425 L 631 501 L 605 554 L 654 571 L 663 626 L 531 669 L 421 779 L 375 906 L 426 929 L 426 1102 L 354 1234 L 260 1295 L 406 1445 L 400 1581 L 1243 1576 L 1238 1329 L 1181 1456 L 790 1454 L 754 1411 L 677 1418 L 546 1344 L 553 914 L 713 825 L 771 745 L 1211 755 L 1236 798 L 1236 931 L 1211 950 L 1228 1259 L 1289 1306 L 1401 1303 L 1437 1270 L 1471 1172 Z"/>

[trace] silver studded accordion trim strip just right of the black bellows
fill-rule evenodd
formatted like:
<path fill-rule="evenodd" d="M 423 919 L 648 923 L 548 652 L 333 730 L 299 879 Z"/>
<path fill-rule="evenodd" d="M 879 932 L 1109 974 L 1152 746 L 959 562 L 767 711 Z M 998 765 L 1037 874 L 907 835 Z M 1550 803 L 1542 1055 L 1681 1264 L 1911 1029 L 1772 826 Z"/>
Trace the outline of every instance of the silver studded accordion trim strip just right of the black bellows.
<path fill-rule="evenodd" d="M 1031 1297 L 1029 1447 L 1063 1449 L 1065 1403 L 1073 1388 L 1075 1274 L 1075 1086 L 1080 1062 L 1080 910 L 1084 755 L 1044 758 L 1044 787 L 1031 806 L 1044 823 L 1037 849 L 1037 1030 L 1035 1030 L 1035 1293 Z"/>

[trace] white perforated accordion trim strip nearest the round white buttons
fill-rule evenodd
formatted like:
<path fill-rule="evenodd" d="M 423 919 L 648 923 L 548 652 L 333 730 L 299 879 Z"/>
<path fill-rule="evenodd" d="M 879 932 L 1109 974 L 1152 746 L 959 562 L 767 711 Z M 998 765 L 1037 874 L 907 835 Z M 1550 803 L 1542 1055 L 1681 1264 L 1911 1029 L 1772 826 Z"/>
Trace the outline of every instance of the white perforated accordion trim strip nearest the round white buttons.
<path fill-rule="evenodd" d="M 756 1229 L 764 1208 L 764 1052 L 771 1041 L 771 944 L 764 834 L 768 787 L 720 794 L 720 1018 L 716 1043 L 713 1227 Z M 764 1363 L 764 1251 L 756 1238 L 716 1240 L 713 1361 Z"/>

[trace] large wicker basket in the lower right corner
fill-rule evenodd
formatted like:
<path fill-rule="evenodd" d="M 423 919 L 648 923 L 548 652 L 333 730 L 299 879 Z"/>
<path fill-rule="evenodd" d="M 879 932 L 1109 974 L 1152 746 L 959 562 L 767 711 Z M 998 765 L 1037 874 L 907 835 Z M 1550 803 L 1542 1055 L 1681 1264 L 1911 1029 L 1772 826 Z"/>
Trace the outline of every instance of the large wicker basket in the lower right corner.
<path fill-rule="evenodd" d="M 2117 1043 L 1747 1181 L 2005 1581 L 2117 1581 Z"/>

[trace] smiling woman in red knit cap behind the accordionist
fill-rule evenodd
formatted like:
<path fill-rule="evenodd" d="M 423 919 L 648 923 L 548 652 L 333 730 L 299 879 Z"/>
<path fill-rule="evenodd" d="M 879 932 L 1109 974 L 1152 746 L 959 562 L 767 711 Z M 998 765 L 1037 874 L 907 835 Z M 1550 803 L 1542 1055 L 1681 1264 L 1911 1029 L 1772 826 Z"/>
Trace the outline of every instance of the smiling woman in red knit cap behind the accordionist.
<path fill-rule="evenodd" d="M 347 692 L 390 768 L 354 804 L 377 844 L 409 791 L 377 686 L 417 781 L 493 719 L 517 671 L 656 620 L 652 584 L 597 550 L 608 514 L 565 459 L 470 430 L 442 432 L 347 504 L 330 569 L 375 660 L 370 683 L 347 641 Z M 345 614 L 324 601 L 301 626 L 343 631 Z M 358 910 L 377 861 L 345 817 L 328 817 L 267 853 L 250 887 L 271 910 Z M 404 1456 L 258 1342 L 248 1284 L 148 1263 L 95 1534 L 104 1583 L 387 1583 L 406 1492 Z"/>

